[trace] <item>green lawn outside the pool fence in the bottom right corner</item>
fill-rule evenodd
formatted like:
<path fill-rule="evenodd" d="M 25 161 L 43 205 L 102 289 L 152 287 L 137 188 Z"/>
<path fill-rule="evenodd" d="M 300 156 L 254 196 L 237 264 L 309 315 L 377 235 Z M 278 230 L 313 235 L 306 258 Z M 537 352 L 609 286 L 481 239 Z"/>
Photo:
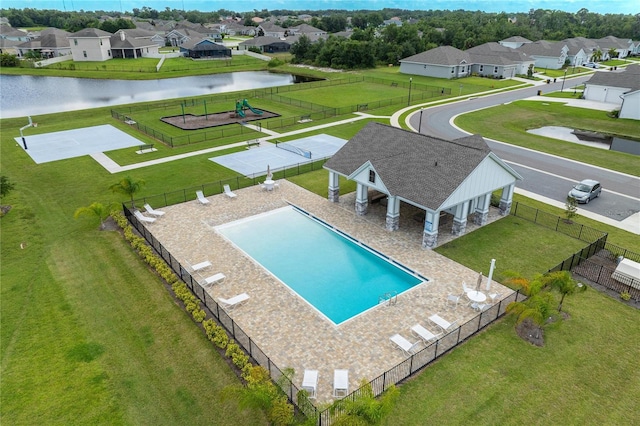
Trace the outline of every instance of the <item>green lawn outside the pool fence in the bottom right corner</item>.
<path fill-rule="evenodd" d="M 402 385 L 383 424 L 640 422 L 640 312 L 591 290 L 563 311 L 541 348 L 516 336 L 512 318 L 490 326 Z"/>

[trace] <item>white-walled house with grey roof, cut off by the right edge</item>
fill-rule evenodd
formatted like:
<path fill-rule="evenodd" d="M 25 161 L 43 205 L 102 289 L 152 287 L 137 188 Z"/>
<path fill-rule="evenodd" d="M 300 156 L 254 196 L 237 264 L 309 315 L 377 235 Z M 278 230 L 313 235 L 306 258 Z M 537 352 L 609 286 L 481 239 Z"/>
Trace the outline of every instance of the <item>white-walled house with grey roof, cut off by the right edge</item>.
<path fill-rule="evenodd" d="M 585 82 L 584 98 L 620 105 L 620 118 L 640 120 L 640 64 L 621 71 L 600 71 Z"/>

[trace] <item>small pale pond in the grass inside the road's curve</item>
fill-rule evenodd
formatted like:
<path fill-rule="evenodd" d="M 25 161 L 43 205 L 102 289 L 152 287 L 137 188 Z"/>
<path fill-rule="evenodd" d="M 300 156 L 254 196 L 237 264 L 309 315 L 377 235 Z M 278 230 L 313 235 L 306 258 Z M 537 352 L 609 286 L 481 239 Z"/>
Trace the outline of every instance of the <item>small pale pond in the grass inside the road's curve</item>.
<path fill-rule="evenodd" d="M 609 136 L 596 132 L 586 132 L 561 126 L 539 127 L 537 129 L 527 130 L 527 133 L 591 146 L 594 148 L 640 155 L 640 141 L 619 138 L 617 136 Z"/>

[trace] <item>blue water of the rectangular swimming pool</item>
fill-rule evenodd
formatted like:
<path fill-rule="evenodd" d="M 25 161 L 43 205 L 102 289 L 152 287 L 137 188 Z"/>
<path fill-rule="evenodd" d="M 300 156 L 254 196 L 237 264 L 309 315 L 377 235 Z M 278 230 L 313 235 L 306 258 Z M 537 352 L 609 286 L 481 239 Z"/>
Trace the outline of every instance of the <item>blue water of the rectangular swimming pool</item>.
<path fill-rule="evenodd" d="M 335 324 L 426 281 L 293 207 L 216 230 Z"/>

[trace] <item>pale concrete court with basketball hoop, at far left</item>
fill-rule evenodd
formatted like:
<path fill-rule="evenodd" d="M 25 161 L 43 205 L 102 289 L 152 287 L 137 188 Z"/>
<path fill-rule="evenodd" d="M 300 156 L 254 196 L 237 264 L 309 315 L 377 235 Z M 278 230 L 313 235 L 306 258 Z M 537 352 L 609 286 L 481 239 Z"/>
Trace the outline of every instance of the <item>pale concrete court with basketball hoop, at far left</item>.
<path fill-rule="evenodd" d="M 24 149 L 22 139 L 15 138 Z M 110 124 L 61 132 L 42 133 L 25 136 L 26 153 L 37 164 L 116 149 L 140 146 L 143 143 Z"/>

